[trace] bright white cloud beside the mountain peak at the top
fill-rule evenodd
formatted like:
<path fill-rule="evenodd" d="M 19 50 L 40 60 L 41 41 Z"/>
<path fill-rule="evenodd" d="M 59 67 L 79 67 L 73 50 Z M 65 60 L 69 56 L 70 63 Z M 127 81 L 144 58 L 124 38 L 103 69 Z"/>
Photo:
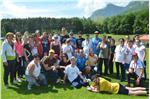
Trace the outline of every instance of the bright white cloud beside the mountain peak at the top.
<path fill-rule="evenodd" d="M 102 9 L 109 3 L 117 6 L 126 6 L 130 1 L 133 0 L 79 0 L 77 7 L 83 9 L 84 16 L 88 17 L 93 11 Z"/>

